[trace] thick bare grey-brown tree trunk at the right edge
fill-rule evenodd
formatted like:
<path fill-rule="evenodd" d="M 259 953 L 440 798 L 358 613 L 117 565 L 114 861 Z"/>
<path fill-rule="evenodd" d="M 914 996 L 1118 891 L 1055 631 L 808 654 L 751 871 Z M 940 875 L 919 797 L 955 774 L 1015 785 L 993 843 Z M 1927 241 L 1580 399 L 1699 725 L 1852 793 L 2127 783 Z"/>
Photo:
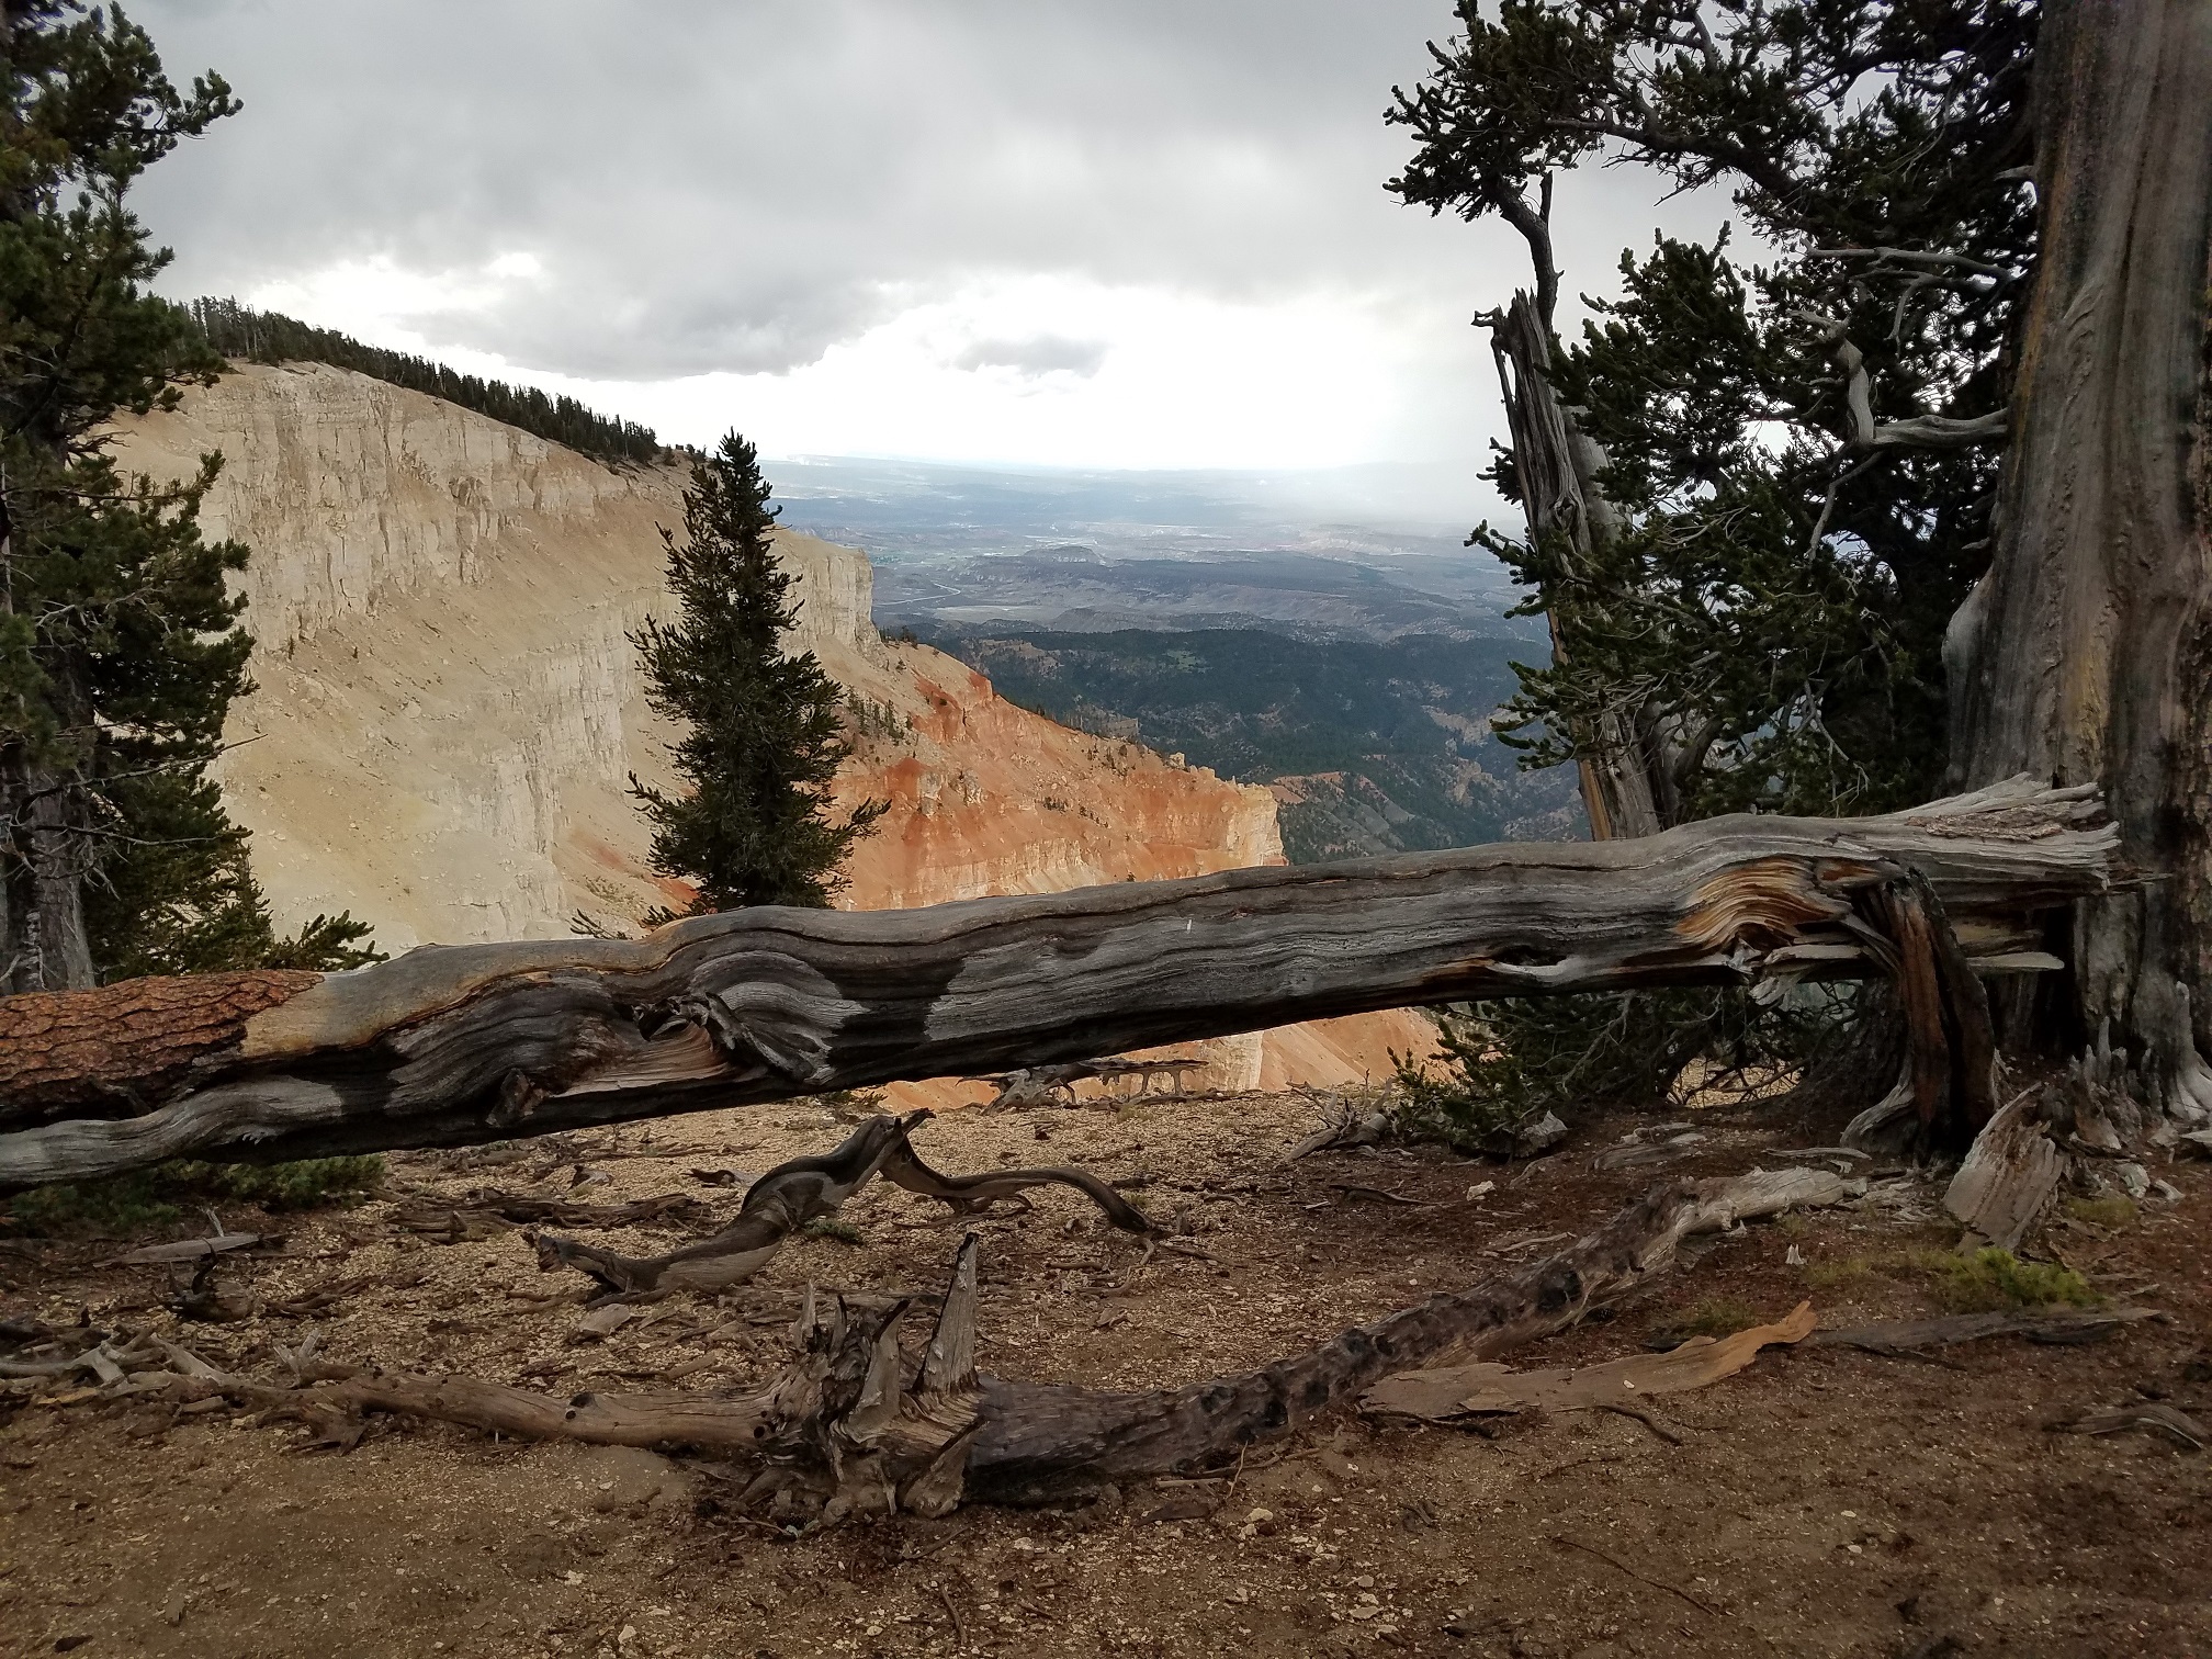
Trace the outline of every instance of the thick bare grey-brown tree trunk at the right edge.
<path fill-rule="evenodd" d="M 2203 1119 L 2212 7 L 2051 0 L 2035 75 L 2042 250 L 1997 546 L 1947 650 L 1953 770 L 2106 792 L 2148 880 L 2077 911 L 2070 984 L 2013 1035 L 2110 1053 L 2110 1082 Z"/>

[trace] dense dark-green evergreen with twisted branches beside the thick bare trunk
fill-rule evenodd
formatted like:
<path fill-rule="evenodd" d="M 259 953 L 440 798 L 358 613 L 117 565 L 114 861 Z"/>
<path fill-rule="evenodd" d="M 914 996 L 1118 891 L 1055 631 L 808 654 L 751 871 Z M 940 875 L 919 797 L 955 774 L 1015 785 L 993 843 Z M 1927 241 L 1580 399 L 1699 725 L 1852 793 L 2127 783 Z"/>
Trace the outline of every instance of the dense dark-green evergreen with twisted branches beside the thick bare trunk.
<path fill-rule="evenodd" d="M 2035 0 L 1462 0 L 1391 119 L 1409 204 L 1513 226 L 1553 323 L 1551 179 L 1588 161 L 1725 184 L 1778 257 L 1661 239 L 1548 341 L 1606 533 L 1484 526 L 1555 661 L 1533 763 L 1630 728 L 1657 823 L 1878 812 L 1944 774 L 1944 628 L 1989 562 L 2035 254 Z M 1515 365 L 1528 372 L 1528 365 Z M 1522 493 L 1526 458 L 1493 469 Z M 1542 515 L 1542 502 L 1535 504 Z"/>

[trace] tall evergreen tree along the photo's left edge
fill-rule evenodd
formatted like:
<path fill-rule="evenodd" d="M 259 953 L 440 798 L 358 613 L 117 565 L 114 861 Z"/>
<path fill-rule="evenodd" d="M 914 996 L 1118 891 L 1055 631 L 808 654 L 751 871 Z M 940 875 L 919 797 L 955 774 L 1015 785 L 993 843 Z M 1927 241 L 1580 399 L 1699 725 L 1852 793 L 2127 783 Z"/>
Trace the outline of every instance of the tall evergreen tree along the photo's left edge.
<path fill-rule="evenodd" d="M 279 949 L 206 776 L 252 648 L 246 549 L 197 524 L 221 458 L 155 487 L 104 453 L 221 369 L 146 290 L 168 252 L 124 197 L 234 108 L 117 11 L 0 0 L 0 993 Z M 281 949 L 361 956 L 365 927 L 321 929 Z"/>

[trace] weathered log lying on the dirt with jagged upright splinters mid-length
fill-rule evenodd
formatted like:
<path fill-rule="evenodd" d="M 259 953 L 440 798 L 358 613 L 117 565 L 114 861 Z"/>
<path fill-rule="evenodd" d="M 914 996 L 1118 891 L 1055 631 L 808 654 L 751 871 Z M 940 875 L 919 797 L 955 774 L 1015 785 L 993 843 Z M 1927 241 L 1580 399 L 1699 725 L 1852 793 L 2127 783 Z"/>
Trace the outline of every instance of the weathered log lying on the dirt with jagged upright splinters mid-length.
<path fill-rule="evenodd" d="M 1380 1378 L 1444 1358 L 1500 1358 L 1566 1329 L 1663 1272 L 1701 1232 L 1863 1190 L 1827 1170 L 1672 1181 L 1597 1232 L 1517 1274 L 1431 1296 L 1245 1376 L 1113 1394 L 975 1371 L 978 1239 L 953 1261 L 920 1354 L 900 1352 L 907 1303 L 803 1321 L 803 1352 L 748 1396 L 577 1394 L 467 1378 L 349 1376 L 279 1389 L 195 1371 L 221 1391 L 307 1420 L 398 1411 L 529 1438 L 690 1447 L 761 1460 L 748 1498 L 785 1517 L 942 1515 L 962 1502 L 1040 1504 L 1146 1475 L 1221 1467 L 1245 1447 L 1349 1405 Z"/>

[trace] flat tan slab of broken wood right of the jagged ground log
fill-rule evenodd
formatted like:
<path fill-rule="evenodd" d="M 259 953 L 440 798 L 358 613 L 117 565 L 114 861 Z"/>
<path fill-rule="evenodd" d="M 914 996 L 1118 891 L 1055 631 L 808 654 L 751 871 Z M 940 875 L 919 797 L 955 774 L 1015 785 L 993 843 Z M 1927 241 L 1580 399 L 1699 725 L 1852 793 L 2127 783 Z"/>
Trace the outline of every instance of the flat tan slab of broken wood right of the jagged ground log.
<path fill-rule="evenodd" d="M 1787 1318 L 1774 1325 L 1752 1325 L 1723 1338 L 1692 1336 L 1666 1354 L 1630 1354 L 1601 1365 L 1546 1371 L 1511 1371 L 1504 1365 L 1402 1371 L 1367 1389 L 1360 1396 L 1360 1411 L 1420 1422 L 1453 1422 L 1528 1409 L 1610 1409 L 1650 1394 L 1708 1387 L 1741 1371 L 1770 1343 L 1803 1343 L 1812 1332 L 1812 1303 L 1798 1303 Z"/>

